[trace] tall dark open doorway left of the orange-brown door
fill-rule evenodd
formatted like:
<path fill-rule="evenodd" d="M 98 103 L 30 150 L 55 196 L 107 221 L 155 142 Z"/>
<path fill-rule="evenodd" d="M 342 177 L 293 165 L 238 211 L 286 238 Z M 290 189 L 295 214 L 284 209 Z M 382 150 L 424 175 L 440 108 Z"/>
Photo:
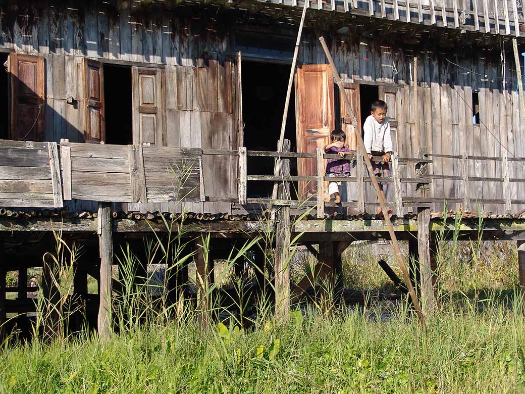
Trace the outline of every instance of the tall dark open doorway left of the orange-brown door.
<path fill-rule="evenodd" d="M 276 151 L 285 108 L 290 66 L 243 61 L 244 141 L 248 150 Z M 297 151 L 295 90 L 292 87 L 285 138 Z M 248 157 L 248 175 L 273 175 L 274 159 Z M 297 175 L 297 160 L 290 159 L 290 173 Z M 249 181 L 248 197 L 271 196 L 274 182 Z M 297 196 L 297 182 L 291 186 L 292 199 Z"/>

